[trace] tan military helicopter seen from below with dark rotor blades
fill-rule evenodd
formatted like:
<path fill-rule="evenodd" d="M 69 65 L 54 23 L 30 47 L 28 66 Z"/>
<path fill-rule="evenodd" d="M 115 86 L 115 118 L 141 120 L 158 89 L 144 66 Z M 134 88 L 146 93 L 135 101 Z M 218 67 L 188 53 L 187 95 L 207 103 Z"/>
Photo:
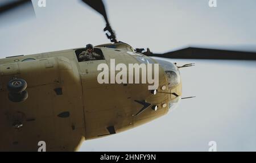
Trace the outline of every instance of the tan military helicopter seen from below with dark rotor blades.
<path fill-rule="evenodd" d="M 193 58 L 256 60 L 255 53 L 186 48 L 164 54 L 117 41 L 102 1 L 83 1 L 106 20 L 110 44 L 97 45 L 97 60 L 80 61 L 84 48 L 0 60 L 0 151 L 77 151 L 84 140 L 112 135 L 167 114 L 181 99 L 179 68 L 160 60 Z M 153 57 L 153 58 L 152 58 Z M 100 84 L 99 64 L 159 64 L 159 86 Z"/>

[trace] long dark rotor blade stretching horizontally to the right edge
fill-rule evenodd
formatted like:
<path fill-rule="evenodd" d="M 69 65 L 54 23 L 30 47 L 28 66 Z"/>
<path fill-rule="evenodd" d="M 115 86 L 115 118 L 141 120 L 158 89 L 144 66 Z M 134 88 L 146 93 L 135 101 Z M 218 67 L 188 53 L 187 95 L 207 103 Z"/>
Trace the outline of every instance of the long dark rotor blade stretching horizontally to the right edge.
<path fill-rule="evenodd" d="M 256 60 L 256 52 L 226 51 L 220 49 L 184 48 L 163 54 L 144 52 L 144 55 L 164 58 L 204 60 Z"/>

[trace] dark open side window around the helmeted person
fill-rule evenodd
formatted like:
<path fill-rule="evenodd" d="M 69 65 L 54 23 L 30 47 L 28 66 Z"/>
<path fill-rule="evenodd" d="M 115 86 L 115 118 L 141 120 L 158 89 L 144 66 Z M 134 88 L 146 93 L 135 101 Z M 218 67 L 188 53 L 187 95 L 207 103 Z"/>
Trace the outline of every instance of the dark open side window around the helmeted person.
<path fill-rule="evenodd" d="M 93 57 L 87 57 L 87 58 L 81 59 L 79 56 L 82 52 L 85 52 L 85 48 L 80 48 L 75 50 L 76 57 L 79 62 L 92 61 L 92 60 L 105 60 L 105 57 L 101 49 L 99 48 L 93 48 Z"/>

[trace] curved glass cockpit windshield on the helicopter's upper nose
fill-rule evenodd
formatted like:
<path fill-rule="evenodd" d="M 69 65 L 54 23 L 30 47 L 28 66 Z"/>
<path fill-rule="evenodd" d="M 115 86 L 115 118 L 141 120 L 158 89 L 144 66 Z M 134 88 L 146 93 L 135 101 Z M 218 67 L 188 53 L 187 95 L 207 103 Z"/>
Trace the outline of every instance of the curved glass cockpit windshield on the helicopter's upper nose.
<path fill-rule="evenodd" d="M 175 87 L 179 85 L 180 83 L 180 72 L 177 66 L 172 63 L 165 60 L 161 60 L 158 58 L 154 58 L 159 65 L 164 69 L 164 72 L 166 72 L 166 76 L 168 78 L 168 88 Z"/>

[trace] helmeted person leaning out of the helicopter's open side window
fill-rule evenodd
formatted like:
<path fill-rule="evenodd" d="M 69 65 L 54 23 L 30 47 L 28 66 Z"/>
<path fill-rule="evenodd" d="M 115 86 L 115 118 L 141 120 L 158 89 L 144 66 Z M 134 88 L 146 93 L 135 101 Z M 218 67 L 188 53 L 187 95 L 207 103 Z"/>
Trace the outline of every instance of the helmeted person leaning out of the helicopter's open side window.
<path fill-rule="evenodd" d="M 97 53 L 93 52 L 93 45 L 87 44 L 85 47 L 85 51 L 82 51 L 79 54 L 79 60 L 82 61 L 90 61 L 90 60 L 97 60 L 98 57 L 101 57 Z"/>

